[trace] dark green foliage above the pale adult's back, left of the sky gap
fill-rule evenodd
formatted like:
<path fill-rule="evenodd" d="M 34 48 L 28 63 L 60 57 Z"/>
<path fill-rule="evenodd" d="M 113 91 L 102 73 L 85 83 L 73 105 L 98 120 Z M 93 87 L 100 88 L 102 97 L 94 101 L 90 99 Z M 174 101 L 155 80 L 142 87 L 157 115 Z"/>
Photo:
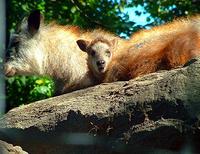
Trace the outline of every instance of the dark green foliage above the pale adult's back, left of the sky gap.
<path fill-rule="evenodd" d="M 134 22 L 123 13 L 125 4 L 113 0 L 10 0 L 8 5 L 8 29 L 32 10 L 40 10 L 46 20 L 56 20 L 60 24 L 73 24 L 82 28 L 105 28 L 116 34 L 129 35 Z M 13 14 L 15 14 L 13 16 Z"/>

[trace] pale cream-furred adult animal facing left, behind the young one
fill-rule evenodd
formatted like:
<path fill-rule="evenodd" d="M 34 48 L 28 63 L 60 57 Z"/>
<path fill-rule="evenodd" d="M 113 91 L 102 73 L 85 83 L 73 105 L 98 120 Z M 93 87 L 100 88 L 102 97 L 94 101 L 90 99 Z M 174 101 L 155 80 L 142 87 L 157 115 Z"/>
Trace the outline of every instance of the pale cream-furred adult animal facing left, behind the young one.
<path fill-rule="evenodd" d="M 50 76 L 56 94 L 92 86 L 96 82 L 88 71 L 87 54 L 81 52 L 76 41 L 92 40 L 98 35 L 122 40 L 101 29 L 82 31 L 76 26 L 44 24 L 40 12 L 34 11 L 11 36 L 5 75 Z"/>

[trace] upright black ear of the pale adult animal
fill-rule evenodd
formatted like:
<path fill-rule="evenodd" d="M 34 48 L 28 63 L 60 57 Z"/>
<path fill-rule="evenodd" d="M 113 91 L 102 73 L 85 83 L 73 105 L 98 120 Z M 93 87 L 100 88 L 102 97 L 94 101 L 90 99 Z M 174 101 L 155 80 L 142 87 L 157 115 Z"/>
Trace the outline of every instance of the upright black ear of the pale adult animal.
<path fill-rule="evenodd" d="M 40 28 L 41 14 L 39 10 L 33 11 L 28 17 L 28 31 L 34 35 Z"/>

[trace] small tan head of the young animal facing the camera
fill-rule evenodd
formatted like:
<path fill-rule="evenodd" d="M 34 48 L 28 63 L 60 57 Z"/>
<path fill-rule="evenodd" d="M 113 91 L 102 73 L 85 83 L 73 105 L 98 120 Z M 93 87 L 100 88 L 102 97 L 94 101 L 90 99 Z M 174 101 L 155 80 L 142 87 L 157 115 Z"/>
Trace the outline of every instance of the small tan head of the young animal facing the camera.
<path fill-rule="evenodd" d="M 79 48 L 87 52 L 88 65 L 96 76 L 101 76 L 107 70 L 113 56 L 116 40 L 108 41 L 104 38 L 96 38 L 93 41 L 78 40 Z"/>

